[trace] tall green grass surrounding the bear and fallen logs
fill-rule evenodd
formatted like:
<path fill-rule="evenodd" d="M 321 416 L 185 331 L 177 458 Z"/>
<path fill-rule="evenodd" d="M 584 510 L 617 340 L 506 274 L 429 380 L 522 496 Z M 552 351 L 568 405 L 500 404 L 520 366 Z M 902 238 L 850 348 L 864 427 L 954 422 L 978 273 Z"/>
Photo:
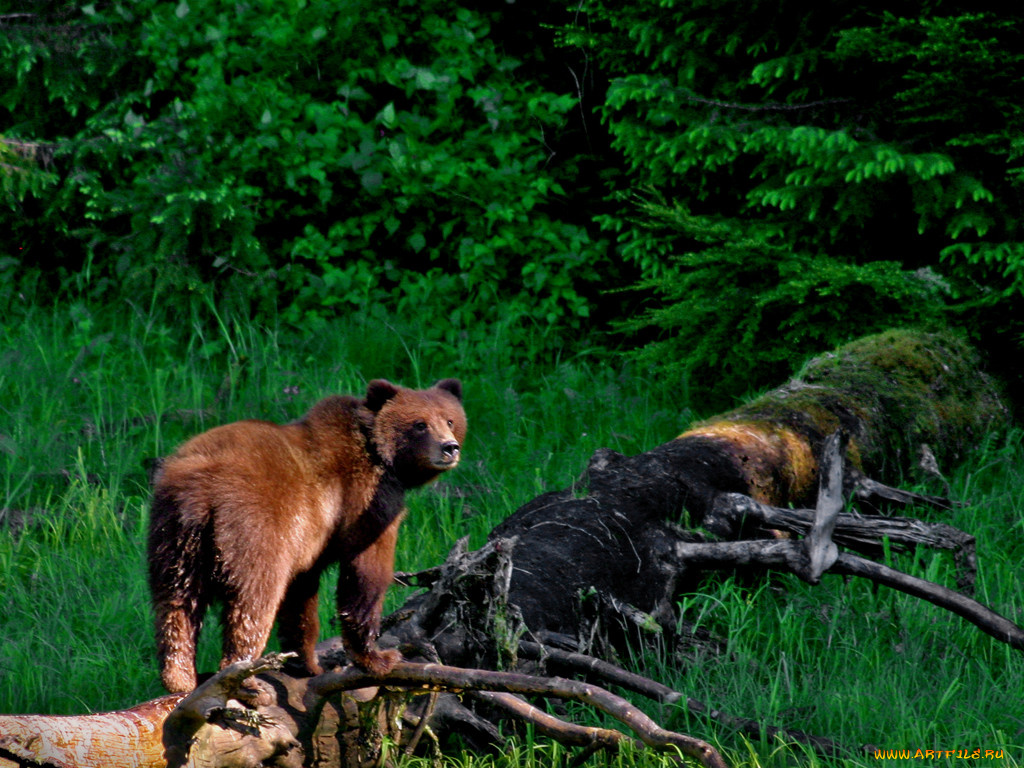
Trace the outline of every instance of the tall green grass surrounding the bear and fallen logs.
<path fill-rule="evenodd" d="M 415 570 L 440 562 L 460 537 L 479 546 L 519 505 L 571 485 L 594 450 L 638 453 L 692 419 L 671 382 L 614 357 L 525 370 L 501 344 L 425 346 L 415 326 L 394 319 L 351 319 L 303 335 L 210 307 L 173 324 L 130 305 L 23 307 L 0 328 L 0 342 L 5 714 L 102 711 L 162 692 L 144 580 L 144 461 L 202 429 L 247 417 L 293 419 L 325 394 L 361 391 L 370 378 L 425 386 L 461 377 L 470 420 L 465 461 L 409 498 L 397 565 Z M 979 599 L 1024 622 L 1021 433 L 983 441 L 950 479 L 953 496 L 970 501 L 948 521 L 977 536 Z M 900 555 L 895 564 L 954 583 L 946 555 Z M 329 595 L 326 583 L 326 632 Z M 402 598 L 392 590 L 389 604 Z M 1005 751 L 988 762 L 821 757 L 778 740 L 750 743 L 680 708 L 642 702 L 666 727 L 721 745 L 736 766 L 1024 765 L 1024 657 L 956 616 L 836 577 L 818 587 L 784 574 L 723 577 L 682 604 L 728 652 L 680 660 L 646 651 L 635 664 L 713 708 L 853 749 Z M 219 655 L 217 634 L 212 626 L 204 633 L 207 669 Z M 451 764 L 570 760 L 538 738 L 497 758 L 454 755 Z M 666 761 L 628 751 L 610 764 Z"/>

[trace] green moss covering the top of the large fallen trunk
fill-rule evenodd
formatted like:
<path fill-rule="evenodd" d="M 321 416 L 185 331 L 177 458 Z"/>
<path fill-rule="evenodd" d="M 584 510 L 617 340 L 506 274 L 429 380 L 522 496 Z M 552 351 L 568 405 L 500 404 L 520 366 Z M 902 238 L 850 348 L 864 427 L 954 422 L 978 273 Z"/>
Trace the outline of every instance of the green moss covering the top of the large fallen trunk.
<path fill-rule="evenodd" d="M 814 455 L 843 426 L 851 460 L 880 479 L 899 479 L 927 444 L 940 467 L 957 463 L 1006 423 L 998 388 L 977 353 L 950 333 L 886 331 L 814 357 L 788 383 L 697 425 L 757 425 L 807 440 Z"/>

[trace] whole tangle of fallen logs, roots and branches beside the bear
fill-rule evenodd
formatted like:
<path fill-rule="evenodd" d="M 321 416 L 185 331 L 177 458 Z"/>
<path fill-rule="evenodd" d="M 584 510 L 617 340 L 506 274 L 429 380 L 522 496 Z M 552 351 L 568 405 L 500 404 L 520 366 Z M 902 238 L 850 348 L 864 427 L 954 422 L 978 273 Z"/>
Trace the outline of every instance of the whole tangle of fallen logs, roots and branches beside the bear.
<path fill-rule="evenodd" d="M 61 740 L 85 749 L 86 733 L 93 744 L 128 734 L 126 746 L 94 763 L 105 766 L 379 765 L 388 762 L 388 744 L 437 751 L 449 731 L 475 749 L 498 748 L 496 723 L 505 718 L 581 748 L 580 759 L 632 740 L 565 722 L 522 696 L 584 701 L 648 746 L 725 765 L 707 742 L 663 730 L 599 687 L 686 707 L 755 736 L 778 732 L 606 660 L 627 641 L 653 636 L 669 648 L 713 648 L 713 639 L 687 634 L 686 617 L 676 613 L 676 598 L 699 589 L 708 570 L 771 568 L 812 584 L 827 573 L 866 578 L 1024 649 L 1020 628 L 970 597 L 970 535 L 879 514 L 950 508 L 942 497 L 887 483 L 920 467 L 922 477 L 943 485 L 938 467 L 1006 418 L 961 342 L 908 333 L 861 340 L 649 452 L 598 452 L 575 486 L 527 503 L 480 550 L 463 541 L 442 565 L 399 574 L 424 591 L 386 622 L 382 644 L 409 659 L 386 679 L 339 666 L 345 659 L 335 641 L 322 647 L 332 671 L 314 678 L 291 677 L 274 669 L 280 658 L 267 658 L 228 668 L 186 697 L 136 710 L 0 717 L 0 768 L 91 764 L 56 752 Z M 869 514 L 845 512 L 850 501 Z M 958 591 L 873 562 L 885 540 L 896 549 L 951 551 Z M 786 735 L 824 752 L 841 749 Z"/>

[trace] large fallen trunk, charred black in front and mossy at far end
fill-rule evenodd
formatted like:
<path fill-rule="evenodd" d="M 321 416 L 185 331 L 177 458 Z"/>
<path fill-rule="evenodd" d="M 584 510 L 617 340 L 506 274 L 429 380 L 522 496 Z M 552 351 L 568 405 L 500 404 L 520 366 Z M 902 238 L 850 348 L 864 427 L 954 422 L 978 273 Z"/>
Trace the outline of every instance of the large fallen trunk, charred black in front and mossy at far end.
<path fill-rule="evenodd" d="M 954 462 L 1008 419 L 997 388 L 962 340 L 906 331 L 861 339 L 646 453 L 598 451 L 574 487 L 520 507 L 490 535 L 518 540 L 509 600 L 535 632 L 575 637 L 581 592 L 634 606 L 669 632 L 679 618 L 675 597 L 698 590 L 700 581 L 699 568 L 679 566 L 677 544 L 698 544 L 709 534 L 756 540 L 780 529 L 806 532 L 813 513 L 799 510 L 816 503 L 829 435 L 849 436 L 844 493 L 858 506 L 946 509 L 949 500 L 866 472 L 887 482 L 911 475 L 912 457 L 925 445 L 929 456 Z M 970 588 L 969 534 L 916 519 L 837 520 L 837 543 L 864 554 L 879 554 L 888 536 L 897 548 L 952 550 L 962 588 Z"/>

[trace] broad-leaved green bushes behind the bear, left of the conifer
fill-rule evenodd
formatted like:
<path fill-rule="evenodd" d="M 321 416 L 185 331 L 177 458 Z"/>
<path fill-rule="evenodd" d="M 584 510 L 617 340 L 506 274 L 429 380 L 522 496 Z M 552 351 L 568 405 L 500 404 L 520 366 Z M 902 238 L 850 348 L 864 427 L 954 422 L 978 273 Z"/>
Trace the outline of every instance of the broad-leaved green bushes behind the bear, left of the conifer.
<path fill-rule="evenodd" d="M 26 262 L 87 273 L 92 292 L 215 290 L 306 328 L 390 303 L 427 312 L 446 341 L 588 315 L 578 286 L 602 255 L 559 215 L 573 160 L 546 139 L 574 101 L 520 81 L 485 14 L 50 6 L 11 24 L 0 51 L 14 65 L 0 130 L 56 142 L 71 169 L 49 196 L 15 196 L 36 207 L 13 222 Z M 87 67 L 61 69 L 68 48 Z"/>

